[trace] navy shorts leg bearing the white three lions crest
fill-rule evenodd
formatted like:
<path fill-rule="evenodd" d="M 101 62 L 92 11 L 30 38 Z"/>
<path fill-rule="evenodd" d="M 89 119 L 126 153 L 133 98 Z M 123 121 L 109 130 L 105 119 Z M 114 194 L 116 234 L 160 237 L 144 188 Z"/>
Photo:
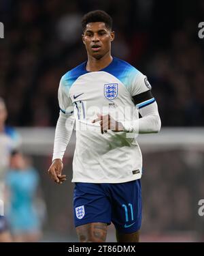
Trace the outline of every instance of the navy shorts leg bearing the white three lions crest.
<path fill-rule="evenodd" d="M 110 201 L 100 184 L 75 183 L 73 216 L 75 227 L 88 223 L 111 223 Z"/>

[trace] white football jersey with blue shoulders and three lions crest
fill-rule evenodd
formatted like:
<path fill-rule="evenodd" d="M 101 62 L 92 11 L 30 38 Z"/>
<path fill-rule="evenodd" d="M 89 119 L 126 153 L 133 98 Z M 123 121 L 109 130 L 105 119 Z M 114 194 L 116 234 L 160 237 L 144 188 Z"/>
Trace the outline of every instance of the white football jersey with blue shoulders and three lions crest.
<path fill-rule="evenodd" d="M 134 134 L 101 134 L 99 122 L 92 120 L 97 113 L 109 113 L 119 121 L 138 118 L 132 97 L 149 89 L 146 76 L 115 57 L 103 70 L 88 72 L 84 62 L 62 77 L 59 106 L 75 116 L 72 182 L 121 183 L 141 177 L 142 156 Z"/>

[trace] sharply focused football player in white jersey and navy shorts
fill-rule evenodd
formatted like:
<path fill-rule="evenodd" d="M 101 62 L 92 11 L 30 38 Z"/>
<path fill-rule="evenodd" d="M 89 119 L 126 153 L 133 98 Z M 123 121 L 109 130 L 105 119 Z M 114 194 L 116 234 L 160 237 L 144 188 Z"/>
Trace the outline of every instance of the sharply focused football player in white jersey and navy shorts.
<path fill-rule="evenodd" d="M 112 57 L 112 18 L 89 12 L 82 29 L 88 60 L 61 78 L 48 173 L 58 184 L 66 180 L 62 160 L 75 124 L 73 214 L 80 242 L 105 242 L 110 223 L 118 242 L 139 242 L 142 156 L 136 136 L 159 132 L 158 107 L 147 77 Z"/>

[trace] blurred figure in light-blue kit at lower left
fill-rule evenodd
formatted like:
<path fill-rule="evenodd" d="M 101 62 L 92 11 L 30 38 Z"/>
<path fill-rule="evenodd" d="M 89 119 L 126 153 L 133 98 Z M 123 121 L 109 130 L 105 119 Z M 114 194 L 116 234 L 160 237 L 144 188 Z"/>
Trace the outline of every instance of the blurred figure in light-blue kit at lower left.
<path fill-rule="evenodd" d="M 7 222 L 14 242 L 37 242 L 41 236 L 41 220 L 35 199 L 39 175 L 18 151 L 12 152 L 10 169 L 5 175 Z"/>

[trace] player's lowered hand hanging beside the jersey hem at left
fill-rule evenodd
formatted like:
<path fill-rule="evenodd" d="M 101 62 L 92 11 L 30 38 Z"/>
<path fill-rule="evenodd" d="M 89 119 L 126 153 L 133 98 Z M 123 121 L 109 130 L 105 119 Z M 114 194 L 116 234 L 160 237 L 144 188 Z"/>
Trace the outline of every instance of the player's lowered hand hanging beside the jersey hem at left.
<path fill-rule="evenodd" d="M 52 165 L 50 165 L 50 168 L 48 169 L 48 173 L 54 182 L 57 184 L 62 184 L 65 182 L 66 175 L 62 175 L 63 170 L 63 162 L 61 159 L 54 159 L 52 162 Z"/>

